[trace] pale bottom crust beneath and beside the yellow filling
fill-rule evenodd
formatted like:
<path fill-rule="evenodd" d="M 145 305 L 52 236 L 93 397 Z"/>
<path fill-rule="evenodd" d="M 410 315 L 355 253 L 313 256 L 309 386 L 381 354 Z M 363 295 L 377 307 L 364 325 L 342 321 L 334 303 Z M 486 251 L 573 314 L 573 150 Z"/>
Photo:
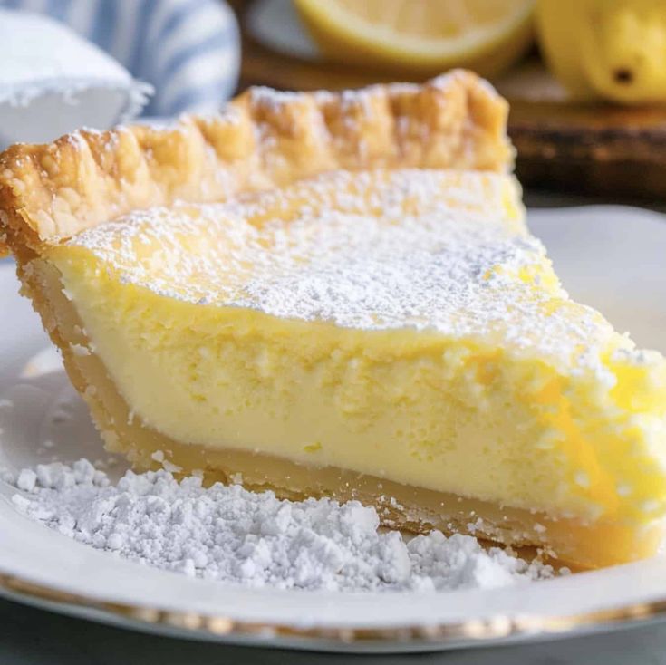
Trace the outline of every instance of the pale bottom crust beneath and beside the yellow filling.
<path fill-rule="evenodd" d="M 501 545 L 536 547 L 575 568 L 645 558 L 661 543 L 661 523 L 584 522 L 411 487 L 343 468 L 305 466 L 261 452 L 204 448 L 169 439 L 132 414 L 94 352 L 81 352 L 90 349 L 91 343 L 72 302 L 63 294 L 57 269 L 34 259 L 18 272 L 23 292 L 32 299 L 44 327 L 61 349 L 65 369 L 88 403 L 106 448 L 123 453 L 135 467 L 160 467 L 152 456 L 162 451 L 183 473 L 203 471 L 207 483 L 239 482 L 250 490 L 270 489 L 277 496 L 296 500 L 310 496 L 329 496 L 341 502 L 356 499 L 375 506 L 381 524 L 391 528 L 413 533 L 439 529 L 445 534 L 476 535 Z"/>

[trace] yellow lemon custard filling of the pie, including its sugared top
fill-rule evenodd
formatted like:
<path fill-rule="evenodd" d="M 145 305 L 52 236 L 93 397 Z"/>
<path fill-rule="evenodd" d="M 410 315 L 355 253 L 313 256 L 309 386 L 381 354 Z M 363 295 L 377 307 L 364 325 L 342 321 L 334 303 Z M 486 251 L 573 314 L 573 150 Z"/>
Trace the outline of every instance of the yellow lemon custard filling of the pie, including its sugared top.
<path fill-rule="evenodd" d="M 171 439 L 552 516 L 662 510 L 666 364 L 568 299 L 511 177 L 333 172 L 48 259 L 132 417 Z"/>

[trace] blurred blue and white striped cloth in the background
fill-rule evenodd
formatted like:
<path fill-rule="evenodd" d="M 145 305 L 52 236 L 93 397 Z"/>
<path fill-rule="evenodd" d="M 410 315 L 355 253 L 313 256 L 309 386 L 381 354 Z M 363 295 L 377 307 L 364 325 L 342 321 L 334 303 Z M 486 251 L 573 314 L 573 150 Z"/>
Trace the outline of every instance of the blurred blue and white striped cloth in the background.
<path fill-rule="evenodd" d="M 240 40 L 222 0 L 0 0 L 48 14 L 155 88 L 145 115 L 214 111 L 236 89 Z"/>

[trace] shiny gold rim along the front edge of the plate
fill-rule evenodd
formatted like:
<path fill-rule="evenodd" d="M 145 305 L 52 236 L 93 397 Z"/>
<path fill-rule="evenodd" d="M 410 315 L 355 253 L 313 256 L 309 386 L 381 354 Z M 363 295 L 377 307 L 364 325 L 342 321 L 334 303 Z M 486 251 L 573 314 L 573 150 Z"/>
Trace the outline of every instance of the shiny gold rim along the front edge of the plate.
<path fill-rule="evenodd" d="M 300 641 L 305 649 L 322 649 L 323 641 L 339 641 L 358 647 L 381 646 L 398 642 L 436 650 L 442 647 L 478 645 L 487 641 L 509 641 L 529 637 L 547 638 L 563 633 L 600 631 L 621 623 L 642 623 L 666 616 L 666 598 L 651 602 L 635 602 L 620 607 L 580 612 L 568 615 L 496 614 L 486 618 L 429 625 L 404 624 L 377 627 L 305 627 L 280 622 L 237 621 L 224 614 L 205 614 L 179 610 L 164 610 L 126 602 L 108 602 L 69 593 L 23 577 L 0 573 L 0 593 L 17 602 L 39 605 L 54 603 L 69 610 L 94 611 L 140 627 L 159 627 L 165 632 L 176 630 L 191 633 L 208 641 L 258 640 Z M 53 609 L 53 608 L 52 608 Z M 276 647 L 281 646 L 275 643 Z M 286 645 L 285 645 L 286 646 Z M 388 645 L 387 645 L 388 646 Z"/>

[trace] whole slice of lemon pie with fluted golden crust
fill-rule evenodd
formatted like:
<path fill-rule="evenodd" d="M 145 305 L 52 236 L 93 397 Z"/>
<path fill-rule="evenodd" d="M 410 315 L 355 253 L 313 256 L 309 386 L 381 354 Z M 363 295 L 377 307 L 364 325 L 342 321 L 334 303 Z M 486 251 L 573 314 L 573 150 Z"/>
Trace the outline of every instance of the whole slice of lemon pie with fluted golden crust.
<path fill-rule="evenodd" d="M 506 114 L 454 72 L 7 150 L 5 245 L 107 447 L 572 564 L 653 554 L 666 361 L 568 298 Z"/>

